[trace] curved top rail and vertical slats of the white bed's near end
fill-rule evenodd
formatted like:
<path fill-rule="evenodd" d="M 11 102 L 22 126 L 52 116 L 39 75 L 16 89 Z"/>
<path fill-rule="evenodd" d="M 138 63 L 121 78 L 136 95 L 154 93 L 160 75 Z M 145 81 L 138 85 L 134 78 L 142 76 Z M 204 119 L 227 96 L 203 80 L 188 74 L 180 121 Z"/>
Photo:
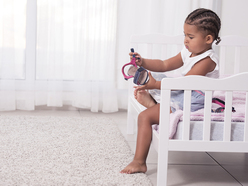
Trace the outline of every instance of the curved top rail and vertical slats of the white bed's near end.
<path fill-rule="evenodd" d="M 232 95 L 233 91 L 244 91 L 246 97 L 248 95 L 248 72 L 240 73 L 227 77 L 224 79 L 211 79 L 203 76 L 187 76 L 172 79 L 162 80 L 162 95 L 161 99 L 168 100 L 167 96 L 170 94 L 167 91 L 171 90 L 184 90 L 184 111 L 183 111 L 183 140 L 189 140 L 189 126 L 190 126 L 190 104 L 191 104 L 191 91 L 203 90 L 205 91 L 205 108 L 204 108 L 204 128 L 203 140 L 210 141 L 210 123 L 211 123 L 211 103 L 213 91 L 225 91 L 225 113 L 224 113 L 224 134 L 223 141 L 230 141 L 231 134 L 231 116 L 232 116 Z M 166 92 L 166 93 L 165 93 Z M 161 100 L 161 116 L 163 120 L 163 104 L 165 101 Z M 246 115 L 245 122 L 247 123 L 247 99 L 246 99 Z M 163 113 L 163 114 L 162 114 Z M 169 117 L 169 116 L 168 116 Z M 167 121 L 168 122 L 168 121 Z M 161 122 L 163 123 L 163 122 Z M 161 127 L 161 126 L 160 126 Z M 245 125 L 244 140 L 247 141 L 247 124 Z"/>

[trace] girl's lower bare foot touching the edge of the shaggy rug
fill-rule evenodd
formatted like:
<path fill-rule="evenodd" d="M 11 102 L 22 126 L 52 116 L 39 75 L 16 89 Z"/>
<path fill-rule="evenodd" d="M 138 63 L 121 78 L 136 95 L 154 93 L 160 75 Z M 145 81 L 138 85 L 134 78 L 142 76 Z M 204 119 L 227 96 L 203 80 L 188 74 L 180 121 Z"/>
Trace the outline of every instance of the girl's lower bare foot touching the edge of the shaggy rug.
<path fill-rule="evenodd" d="M 133 160 L 125 169 L 120 173 L 133 174 L 133 173 L 145 173 L 147 171 L 146 163 L 139 163 L 138 161 Z"/>

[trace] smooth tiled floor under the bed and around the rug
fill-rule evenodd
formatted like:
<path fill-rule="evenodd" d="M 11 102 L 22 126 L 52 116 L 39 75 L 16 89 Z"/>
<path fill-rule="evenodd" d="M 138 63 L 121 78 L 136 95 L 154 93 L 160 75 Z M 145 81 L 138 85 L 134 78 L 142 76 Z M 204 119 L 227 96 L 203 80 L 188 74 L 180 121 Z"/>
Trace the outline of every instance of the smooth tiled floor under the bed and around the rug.
<path fill-rule="evenodd" d="M 72 107 L 37 107 L 35 111 L 0 112 L 0 115 L 49 115 L 49 116 L 93 116 L 104 115 L 113 118 L 130 148 L 135 150 L 136 135 L 126 134 L 126 111 L 117 113 L 92 113 Z M 157 153 L 151 147 L 147 159 L 146 175 L 153 185 L 157 184 Z M 248 154 L 244 153 L 205 153 L 170 152 L 168 185 L 190 186 L 248 186 Z"/>

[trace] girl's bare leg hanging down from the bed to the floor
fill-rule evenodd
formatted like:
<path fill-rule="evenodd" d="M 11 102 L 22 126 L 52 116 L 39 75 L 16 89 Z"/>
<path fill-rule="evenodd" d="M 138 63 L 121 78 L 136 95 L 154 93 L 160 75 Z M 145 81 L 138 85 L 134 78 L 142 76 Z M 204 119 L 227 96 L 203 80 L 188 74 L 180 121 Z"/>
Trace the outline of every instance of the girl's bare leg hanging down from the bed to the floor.
<path fill-rule="evenodd" d="M 137 172 L 145 173 L 147 171 L 146 158 L 152 140 L 152 125 L 159 123 L 159 108 L 160 104 L 156 104 L 139 114 L 134 159 L 121 173 L 132 174 Z"/>

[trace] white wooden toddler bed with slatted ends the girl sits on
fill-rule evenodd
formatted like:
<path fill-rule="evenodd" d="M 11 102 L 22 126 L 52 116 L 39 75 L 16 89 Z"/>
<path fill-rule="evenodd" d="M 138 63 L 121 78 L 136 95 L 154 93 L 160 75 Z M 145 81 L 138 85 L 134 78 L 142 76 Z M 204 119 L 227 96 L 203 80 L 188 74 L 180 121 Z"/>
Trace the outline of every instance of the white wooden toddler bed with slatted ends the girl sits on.
<path fill-rule="evenodd" d="M 134 47 L 137 52 L 143 57 L 149 58 L 168 58 L 168 50 L 171 53 L 179 52 L 182 48 L 183 36 L 164 36 L 164 35 L 142 35 L 133 36 L 131 38 L 131 47 Z M 142 46 L 145 44 L 145 46 Z M 173 45 L 168 47 L 168 45 Z M 141 46 L 141 47 L 140 47 Z M 220 46 L 220 47 L 219 47 Z M 160 104 L 160 125 L 159 133 L 153 130 L 153 146 L 158 152 L 158 173 L 157 185 L 165 186 L 167 184 L 167 168 L 168 168 L 168 151 L 203 151 L 203 152 L 248 152 L 248 72 L 240 72 L 240 67 L 243 71 L 244 65 L 241 63 L 241 47 L 248 46 L 248 39 L 237 36 L 222 37 L 222 41 L 215 50 L 220 52 L 221 74 L 225 74 L 225 65 L 227 64 L 225 51 L 227 46 L 235 47 L 233 64 L 231 64 L 235 74 L 224 79 L 210 79 L 202 76 L 188 76 L 178 78 L 165 78 L 162 80 L 161 86 L 161 104 Z M 247 48 L 246 48 L 247 49 Z M 234 50 L 234 49 L 232 49 Z M 158 53 L 156 53 L 158 52 Z M 228 52 L 229 53 L 229 52 Z M 162 54 L 158 56 L 159 54 Z M 229 58 L 229 56 L 228 56 Z M 230 60 L 229 60 L 230 61 Z M 229 63 L 229 62 L 228 62 Z M 180 69 L 179 69 L 180 70 Z M 179 71 L 178 70 L 178 71 Z M 174 73 L 174 72 L 169 72 Z M 134 133 L 138 114 L 145 108 L 140 105 L 133 97 L 133 84 L 129 80 L 129 103 L 128 103 L 128 118 L 127 118 L 127 133 Z M 183 116 L 180 116 L 182 121 L 178 122 L 177 131 L 173 139 L 169 139 L 171 134 L 172 124 L 170 121 L 170 91 L 184 90 L 184 111 Z M 190 121 L 190 98 L 192 90 L 205 91 L 205 108 L 203 121 Z M 226 102 L 224 112 L 224 121 L 211 121 L 211 107 L 213 91 L 225 91 L 222 96 Z M 241 91 L 244 95 L 243 115 L 242 117 L 234 118 L 232 122 L 233 106 L 233 91 Z M 238 113 L 238 111 L 237 111 Z M 237 114 L 236 113 L 236 114 Z M 178 118 L 177 118 L 178 119 Z M 179 120 L 179 119 L 178 119 Z M 171 125 L 171 126 L 170 126 Z M 156 128 L 156 127 L 154 127 Z"/>

